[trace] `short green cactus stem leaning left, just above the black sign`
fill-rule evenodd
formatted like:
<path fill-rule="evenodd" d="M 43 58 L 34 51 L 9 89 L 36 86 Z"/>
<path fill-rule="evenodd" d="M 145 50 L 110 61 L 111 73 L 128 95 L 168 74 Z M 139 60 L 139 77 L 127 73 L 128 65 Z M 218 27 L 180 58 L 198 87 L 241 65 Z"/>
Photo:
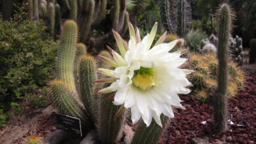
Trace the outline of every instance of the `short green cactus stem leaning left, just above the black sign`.
<path fill-rule="evenodd" d="M 51 82 L 51 86 L 53 87 L 53 99 L 58 109 L 64 115 L 70 115 L 72 117 L 80 118 L 82 124 L 84 126 L 90 126 L 91 122 L 86 113 L 81 107 L 79 107 L 77 101 L 72 96 L 72 92 L 66 88 L 64 81 L 60 79 L 55 79 Z"/>

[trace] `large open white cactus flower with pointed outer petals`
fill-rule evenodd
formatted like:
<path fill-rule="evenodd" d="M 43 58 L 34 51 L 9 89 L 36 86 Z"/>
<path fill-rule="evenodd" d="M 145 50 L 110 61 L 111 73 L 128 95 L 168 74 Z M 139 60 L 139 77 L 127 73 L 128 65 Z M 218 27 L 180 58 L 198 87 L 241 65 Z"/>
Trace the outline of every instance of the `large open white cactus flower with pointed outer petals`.
<path fill-rule="evenodd" d="M 110 78 L 96 82 L 112 83 L 98 93 L 106 94 L 116 91 L 113 103 L 122 105 L 126 109 L 131 108 L 133 124 L 142 117 L 146 126 L 150 125 L 152 118 L 162 126 L 160 115 L 173 118 L 171 106 L 183 108 L 178 94 L 190 92 L 186 86 L 190 86 L 191 83 L 186 79 L 186 75 L 192 73 L 192 70 L 179 68 L 187 59 L 181 58 L 181 51 L 169 53 L 179 40 L 163 43 L 165 32 L 150 48 L 157 27 L 156 23 L 150 34 L 141 41 L 139 29 L 137 28 L 135 33 L 133 26 L 129 23 L 129 43 L 113 31 L 121 55 L 109 48 L 114 60 L 98 56 L 116 67 L 113 70 L 98 69 L 100 73 Z"/>

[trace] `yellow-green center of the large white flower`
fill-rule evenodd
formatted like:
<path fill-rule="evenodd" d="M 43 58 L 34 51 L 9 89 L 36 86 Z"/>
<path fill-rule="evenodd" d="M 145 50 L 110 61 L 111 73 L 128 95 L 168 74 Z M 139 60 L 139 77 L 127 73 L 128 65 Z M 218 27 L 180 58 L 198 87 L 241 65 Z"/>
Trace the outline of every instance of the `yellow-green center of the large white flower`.
<path fill-rule="evenodd" d="M 134 71 L 134 76 L 131 79 L 133 85 L 141 90 L 148 90 L 156 85 L 156 68 L 140 67 Z"/>

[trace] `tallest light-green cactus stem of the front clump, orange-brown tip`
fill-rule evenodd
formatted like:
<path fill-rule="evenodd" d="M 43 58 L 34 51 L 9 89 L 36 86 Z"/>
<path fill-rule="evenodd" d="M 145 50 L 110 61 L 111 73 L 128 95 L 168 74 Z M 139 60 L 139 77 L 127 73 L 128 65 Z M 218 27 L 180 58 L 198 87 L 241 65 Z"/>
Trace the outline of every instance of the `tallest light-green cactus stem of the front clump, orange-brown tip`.
<path fill-rule="evenodd" d="M 74 94 L 77 94 L 74 79 L 75 45 L 77 42 L 77 24 L 67 20 L 63 24 L 60 48 L 58 50 L 57 70 L 58 78 L 64 81 Z"/>

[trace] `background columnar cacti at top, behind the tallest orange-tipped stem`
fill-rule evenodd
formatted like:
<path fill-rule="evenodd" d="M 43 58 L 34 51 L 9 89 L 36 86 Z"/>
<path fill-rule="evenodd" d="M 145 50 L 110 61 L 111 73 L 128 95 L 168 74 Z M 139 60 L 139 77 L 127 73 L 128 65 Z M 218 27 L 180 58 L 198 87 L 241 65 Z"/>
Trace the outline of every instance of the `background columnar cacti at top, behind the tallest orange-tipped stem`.
<path fill-rule="evenodd" d="M 33 3 L 37 0 L 30 1 Z M 111 5 L 107 5 L 108 3 Z M 111 29 L 115 29 L 121 34 L 127 31 L 129 14 L 126 10 L 125 0 L 111 2 L 107 0 L 65 0 L 60 4 L 58 5 L 55 1 L 41 0 L 39 5 L 39 18 L 47 22 L 49 32 L 53 36 L 60 31 L 63 19 L 75 20 L 79 26 L 79 41 L 88 43 L 91 47 L 98 47 L 112 40 Z M 108 14 L 106 11 L 110 13 Z M 35 9 L 32 9 L 32 13 L 35 13 Z M 106 16 L 106 14 L 108 15 Z M 102 23 L 104 26 L 100 25 Z M 102 29 L 104 33 L 100 33 L 100 37 L 91 35 L 91 31 L 96 28 L 104 28 Z"/>

